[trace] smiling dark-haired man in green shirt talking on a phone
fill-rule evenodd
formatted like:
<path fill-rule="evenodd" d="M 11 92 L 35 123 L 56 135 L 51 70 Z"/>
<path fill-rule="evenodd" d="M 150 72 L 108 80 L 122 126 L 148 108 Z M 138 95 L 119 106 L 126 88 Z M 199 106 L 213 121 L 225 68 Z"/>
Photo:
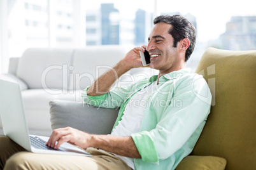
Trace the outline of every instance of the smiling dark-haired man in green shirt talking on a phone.
<path fill-rule="evenodd" d="M 75 165 L 81 169 L 174 169 L 178 166 L 183 157 L 190 154 L 203 130 L 210 113 L 211 95 L 207 94 L 209 89 L 204 79 L 185 69 L 196 42 L 194 26 L 180 15 L 159 16 L 154 24 L 148 46 L 129 51 L 112 70 L 83 91 L 85 102 L 90 105 L 120 107 L 112 133 L 96 135 L 61 128 L 55 129 L 46 143 L 59 148 L 63 142 L 69 142 L 87 148 L 93 157 L 32 157 L 24 152 L 13 155 L 22 150 L 16 147 L 8 157 L 0 154 L 3 166 L 9 157 L 6 166 L 15 164 L 13 167 L 24 169 L 57 169 L 60 165 L 67 169 Z M 142 67 L 139 51 L 144 48 L 150 53 L 150 67 L 159 70 L 159 75 L 111 88 L 125 72 Z M 204 100 L 199 96 L 205 96 Z M 8 139 L 4 140 L 0 138 L 5 145 L 10 145 Z"/>

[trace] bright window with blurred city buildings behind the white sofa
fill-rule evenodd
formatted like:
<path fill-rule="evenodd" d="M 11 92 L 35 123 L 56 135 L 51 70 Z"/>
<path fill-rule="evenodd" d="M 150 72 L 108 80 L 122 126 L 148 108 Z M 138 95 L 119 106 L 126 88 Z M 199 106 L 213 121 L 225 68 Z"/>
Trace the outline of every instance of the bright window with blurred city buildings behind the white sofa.
<path fill-rule="evenodd" d="M 1 0 L 0 72 L 10 57 L 27 48 L 83 48 L 106 44 L 147 44 L 152 20 L 180 14 L 196 26 L 197 43 L 187 67 L 192 71 L 206 48 L 256 49 L 255 2 Z"/>

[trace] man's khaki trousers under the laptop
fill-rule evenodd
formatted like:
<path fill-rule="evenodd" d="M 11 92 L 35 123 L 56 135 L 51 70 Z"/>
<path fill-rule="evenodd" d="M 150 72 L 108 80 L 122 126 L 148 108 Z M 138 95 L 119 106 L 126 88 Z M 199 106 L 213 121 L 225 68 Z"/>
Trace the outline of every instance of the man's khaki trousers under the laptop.
<path fill-rule="evenodd" d="M 129 169 L 116 157 L 96 148 L 86 150 L 92 157 L 34 154 L 27 152 L 6 136 L 0 136 L 0 169 Z"/>

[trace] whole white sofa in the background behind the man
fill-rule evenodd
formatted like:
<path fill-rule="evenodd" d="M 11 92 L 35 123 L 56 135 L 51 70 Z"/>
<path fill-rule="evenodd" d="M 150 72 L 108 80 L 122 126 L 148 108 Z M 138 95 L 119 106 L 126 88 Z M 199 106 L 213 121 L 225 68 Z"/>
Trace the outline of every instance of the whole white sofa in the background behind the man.
<path fill-rule="evenodd" d="M 20 84 L 30 133 L 49 136 L 49 101 L 82 102 L 82 89 L 111 69 L 129 50 L 117 45 L 29 48 L 21 57 L 10 58 L 9 71 L 1 74 L 0 79 Z M 152 74 L 149 68 L 132 69 L 120 77 L 115 86 L 131 83 Z M 1 121 L 0 134 L 3 134 Z"/>

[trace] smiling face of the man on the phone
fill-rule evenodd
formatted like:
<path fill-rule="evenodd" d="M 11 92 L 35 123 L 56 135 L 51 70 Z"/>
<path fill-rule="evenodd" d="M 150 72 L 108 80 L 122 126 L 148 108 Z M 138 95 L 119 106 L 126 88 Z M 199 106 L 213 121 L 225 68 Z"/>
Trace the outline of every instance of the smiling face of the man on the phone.
<path fill-rule="evenodd" d="M 146 50 L 150 53 L 150 67 L 167 74 L 178 65 L 177 48 L 173 47 L 173 36 L 168 33 L 172 27 L 169 23 L 157 23 L 148 37 Z"/>

